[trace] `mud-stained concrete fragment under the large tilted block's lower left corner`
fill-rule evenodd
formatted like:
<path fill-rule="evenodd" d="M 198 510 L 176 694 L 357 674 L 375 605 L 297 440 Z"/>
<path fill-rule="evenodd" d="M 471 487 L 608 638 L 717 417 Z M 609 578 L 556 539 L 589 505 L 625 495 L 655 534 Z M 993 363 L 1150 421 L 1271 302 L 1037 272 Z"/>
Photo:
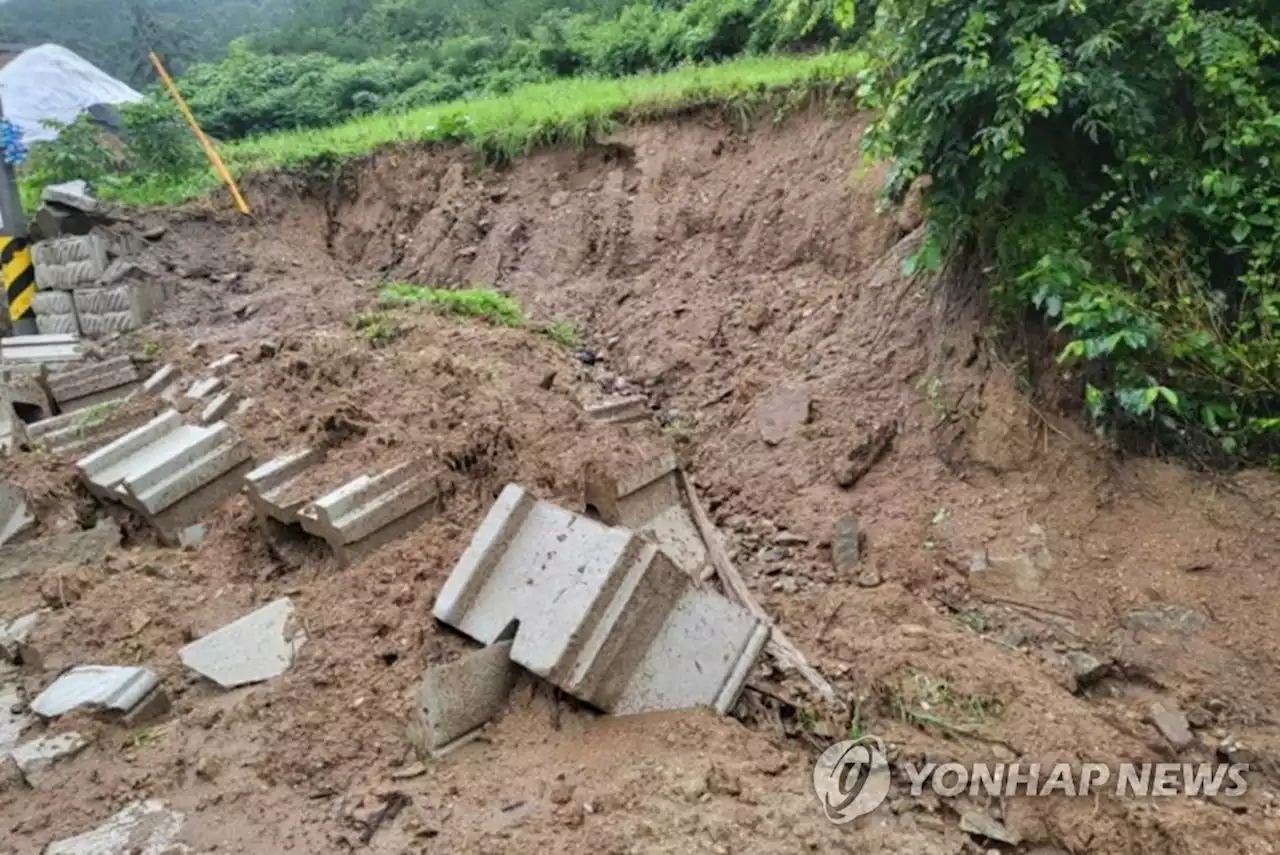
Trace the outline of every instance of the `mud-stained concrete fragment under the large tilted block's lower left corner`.
<path fill-rule="evenodd" d="M 479 736 L 507 705 L 517 675 L 511 641 L 428 668 L 410 723 L 419 758 L 444 756 Z"/>

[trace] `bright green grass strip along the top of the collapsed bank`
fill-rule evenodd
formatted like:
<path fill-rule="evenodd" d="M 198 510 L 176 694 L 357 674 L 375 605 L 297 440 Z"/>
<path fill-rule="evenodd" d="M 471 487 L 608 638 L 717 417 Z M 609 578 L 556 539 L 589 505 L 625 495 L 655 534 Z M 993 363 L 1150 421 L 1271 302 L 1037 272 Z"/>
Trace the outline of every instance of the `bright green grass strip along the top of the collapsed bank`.
<path fill-rule="evenodd" d="M 332 128 L 251 137 L 220 146 L 219 154 L 237 178 L 307 169 L 316 161 L 340 163 L 402 142 L 457 143 L 486 163 L 500 164 L 548 146 L 585 146 L 628 122 L 699 105 L 724 105 L 742 122 L 771 106 L 777 118 L 836 92 L 841 95 L 837 102 L 847 105 L 854 78 L 865 67 L 863 54 L 846 51 L 758 56 L 614 79 L 568 78 L 497 97 L 362 116 Z M 216 188 L 212 173 L 200 170 L 124 175 L 100 192 L 131 205 L 175 205 Z"/>

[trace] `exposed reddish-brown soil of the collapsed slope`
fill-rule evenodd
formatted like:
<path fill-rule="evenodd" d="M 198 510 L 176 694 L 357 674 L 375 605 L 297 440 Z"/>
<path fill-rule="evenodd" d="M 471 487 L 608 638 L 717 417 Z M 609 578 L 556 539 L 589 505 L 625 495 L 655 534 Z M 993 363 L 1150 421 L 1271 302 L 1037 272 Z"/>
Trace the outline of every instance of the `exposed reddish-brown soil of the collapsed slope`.
<path fill-rule="evenodd" d="M 29 695 L 93 662 L 147 664 L 175 696 L 143 731 L 56 722 L 93 742 L 0 792 L 0 851 L 147 796 L 188 814 L 196 851 L 1276 851 L 1280 480 L 1120 459 L 1029 401 L 972 278 L 900 274 L 913 237 L 874 214 L 859 131 L 814 114 L 744 134 L 694 115 L 502 172 L 389 151 L 319 189 L 251 186 L 255 221 L 165 214 L 155 252 L 182 293 L 114 347 L 159 343 L 188 378 L 239 352 L 229 381 L 255 406 L 233 425 L 260 462 L 320 442 L 320 480 L 420 461 L 451 494 L 346 568 L 271 545 L 237 498 L 198 549 L 133 527 L 102 566 L 0 584 L 0 617 L 60 607 L 35 637 L 45 669 L 20 675 Z M 383 280 L 497 287 L 532 323 L 401 308 L 375 347 L 349 320 Z M 538 333 L 556 320 L 581 326 L 580 348 Z M 640 392 L 646 422 L 582 415 Z M 763 659 L 737 718 L 602 718 L 526 678 L 484 741 L 416 767 L 410 694 L 466 648 L 430 608 L 497 491 L 580 508 L 586 459 L 668 447 L 750 587 L 895 756 L 1222 758 L 1251 764 L 1249 794 L 988 804 L 899 787 L 833 826 L 812 763 L 847 721 Z M 46 529 L 90 522 L 70 461 L 22 456 L 13 472 Z M 863 559 L 837 568 L 846 517 Z M 186 641 L 282 595 L 308 636 L 285 676 L 224 692 L 182 668 Z M 1091 685 L 1064 662 L 1076 650 L 1110 663 Z M 1156 704 L 1188 713 L 1193 745 L 1161 736 Z M 365 841 L 394 792 L 411 803 Z M 960 831 L 973 809 L 1020 842 Z"/>

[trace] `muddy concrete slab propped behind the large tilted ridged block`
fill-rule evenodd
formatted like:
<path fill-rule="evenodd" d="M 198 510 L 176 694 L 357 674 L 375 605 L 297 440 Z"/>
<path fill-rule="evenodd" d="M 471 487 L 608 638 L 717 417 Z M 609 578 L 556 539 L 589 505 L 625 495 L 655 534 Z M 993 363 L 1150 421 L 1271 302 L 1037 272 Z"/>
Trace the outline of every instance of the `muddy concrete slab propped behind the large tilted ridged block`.
<path fill-rule="evenodd" d="M 600 520 L 653 539 L 676 566 L 698 579 L 707 564 L 707 544 L 685 506 L 680 462 L 667 453 L 613 474 L 604 463 L 582 471 L 584 499 Z"/>

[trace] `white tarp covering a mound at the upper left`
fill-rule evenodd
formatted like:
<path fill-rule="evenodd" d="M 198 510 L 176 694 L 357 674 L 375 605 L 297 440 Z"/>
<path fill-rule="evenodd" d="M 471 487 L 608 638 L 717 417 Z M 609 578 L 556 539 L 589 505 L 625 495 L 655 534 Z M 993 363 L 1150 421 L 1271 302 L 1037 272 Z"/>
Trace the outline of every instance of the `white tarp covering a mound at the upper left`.
<path fill-rule="evenodd" d="M 5 118 L 22 128 L 28 145 L 58 134 L 45 119 L 69 123 L 95 104 L 132 104 L 142 95 L 59 45 L 23 51 L 0 68 Z"/>

